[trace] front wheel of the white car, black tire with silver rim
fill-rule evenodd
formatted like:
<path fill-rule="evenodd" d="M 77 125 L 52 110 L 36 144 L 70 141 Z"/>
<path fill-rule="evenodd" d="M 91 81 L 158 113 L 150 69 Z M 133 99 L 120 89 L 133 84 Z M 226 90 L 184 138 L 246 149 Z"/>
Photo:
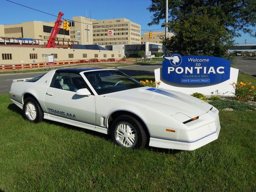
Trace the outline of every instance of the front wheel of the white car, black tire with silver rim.
<path fill-rule="evenodd" d="M 126 131 L 122 130 L 122 127 L 126 127 L 124 128 Z M 117 145 L 124 148 L 141 149 L 145 147 L 147 141 L 143 126 L 130 115 L 120 115 L 114 119 L 111 125 L 111 138 Z"/>

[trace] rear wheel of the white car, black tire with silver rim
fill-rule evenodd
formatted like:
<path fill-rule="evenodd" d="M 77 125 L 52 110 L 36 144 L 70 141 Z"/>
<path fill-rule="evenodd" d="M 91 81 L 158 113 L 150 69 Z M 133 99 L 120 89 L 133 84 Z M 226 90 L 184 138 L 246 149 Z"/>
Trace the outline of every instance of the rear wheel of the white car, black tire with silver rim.
<path fill-rule="evenodd" d="M 23 105 L 23 117 L 32 123 L 38 123 L 44 118 L 44 113 L 33 97 L 28 97 L 25 100 Z"/>

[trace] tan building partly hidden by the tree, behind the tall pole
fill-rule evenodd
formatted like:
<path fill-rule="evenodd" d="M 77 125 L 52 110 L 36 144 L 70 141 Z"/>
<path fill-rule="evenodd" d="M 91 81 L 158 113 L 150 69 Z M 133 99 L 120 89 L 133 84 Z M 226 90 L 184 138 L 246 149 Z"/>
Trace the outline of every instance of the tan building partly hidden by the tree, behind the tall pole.
<path fill-rule="evenodd" d="M 145 42 L 156 42 L 157 44 L 162 44 L 163 38 L 165 38 L 165 31 L 153 31 L 152 38 L 150 39 L 150 32 L 145 32 L 141 35 L 141 44 Z M 168 33 L 168 38 L 174 36 L 173 33 Z"/>

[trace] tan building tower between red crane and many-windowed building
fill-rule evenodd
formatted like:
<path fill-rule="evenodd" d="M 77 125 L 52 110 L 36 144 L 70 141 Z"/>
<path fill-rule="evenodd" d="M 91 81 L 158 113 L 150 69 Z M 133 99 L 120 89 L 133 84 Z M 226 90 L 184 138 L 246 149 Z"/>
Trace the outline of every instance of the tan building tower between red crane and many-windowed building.
<path fill-rule="evenodd" d="M 72 17 L 70 22 L 70 40 L 78 41 L 81 45 L 93 44 L 92 19 L 82 16 Z"/>

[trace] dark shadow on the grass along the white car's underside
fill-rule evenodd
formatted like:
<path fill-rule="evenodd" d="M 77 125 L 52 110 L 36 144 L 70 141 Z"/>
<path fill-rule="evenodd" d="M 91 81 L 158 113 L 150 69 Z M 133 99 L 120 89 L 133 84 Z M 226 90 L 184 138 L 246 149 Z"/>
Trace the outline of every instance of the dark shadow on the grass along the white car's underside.
<path fill-rule="evenodd" d="M 13 103 L 8 105 L 8 109 L 13 111 L 13 112 L 15 112 L 15 113 L 17 113 L 18 115 L 23 115 L 22 110 L 20 110 Z M 96 131 L 87 130 L 87 129 L 83 129 L 83 128 L 80 128 L 80 127 L 77 127 L 77 126 L 73 126 L 73 125 L 69 125 L 69 124 L 65 124 L 65 123 L 60 123 L 60 122 L 56 122 L 56 121 L 51 121 L 51 120 L 47 120 L 47 119 L 44 119 L 44 121 L 49 123 L 49 124 L 54 124 L 54 125 L 62 126 L 65 129 L 81 131 L 83 133 L 87 133 L 87 134 L 90 134 L 92 136 L 96 136 L 96 137 L 105 139 L 106 141 L 109 141 L 109 142 L 113 143 L 113 145 L 114 145 L 114 142 L 111 140 L 111 136 L 110 135 L 106 135 L 106 134 L 99 133 L 99 132 L 96 132 Z M 172 150 L 172 149 L 166 149 L 166 148 L 157 148 L 157 147 L 151 147 L 151 146 L 148 146 L 148 145 L 146 147 L 146 150 L 151 150 L 151 151 L 154 151 L 154 152 L 165 153 L 165 154 L 177 154 L 177 153 L 182 152 L 180 150 Z M 0 189 L 0 192 L 3 192 L 3 190 Z"/>

